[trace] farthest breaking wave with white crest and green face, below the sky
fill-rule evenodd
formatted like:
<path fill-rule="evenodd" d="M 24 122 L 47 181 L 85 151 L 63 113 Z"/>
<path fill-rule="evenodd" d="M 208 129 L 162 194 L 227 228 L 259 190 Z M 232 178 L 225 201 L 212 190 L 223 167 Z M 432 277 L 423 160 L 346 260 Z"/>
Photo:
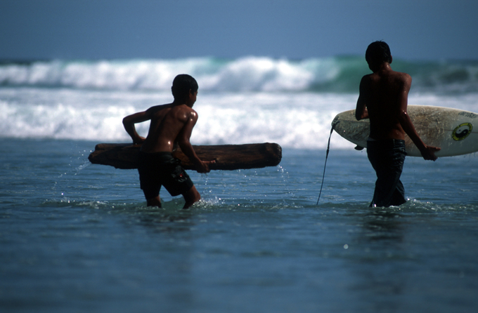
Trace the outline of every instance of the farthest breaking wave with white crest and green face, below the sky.
<path fill-rule="evenodd" d="M 413 91 L 478 91 L 478 61 L 394 60 L 394 69 L 413 76 Z M 193 75 L 202 91 L 295 91 L 355 93 L 370 72 L 363 57 L 305 60 L 245 57 L 235 60 L 51 60 L 0 62 L 1 86 L 117 90 L 169 90 L 178 73 Z"/>

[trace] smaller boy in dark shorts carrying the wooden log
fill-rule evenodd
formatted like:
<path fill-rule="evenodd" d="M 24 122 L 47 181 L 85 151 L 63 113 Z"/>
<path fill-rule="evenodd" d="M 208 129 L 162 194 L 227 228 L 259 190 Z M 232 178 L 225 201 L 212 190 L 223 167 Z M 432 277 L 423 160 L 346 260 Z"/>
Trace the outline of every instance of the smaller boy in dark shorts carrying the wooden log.
<path fill-rule="evenodd" d="M 173 197 L 182 194 L 186 201 L 183 208 L 188 208 L 201 196 L 181 167 L 181 161 L 175 159 L 172 152 L 179 145 L 199 173 L 209 173 L 209 164 L 214 161 L 202 161 L 189 141 L 198 121 L 198 113 L 193 109 L 198 83 L 192 76 L 180 74 L 174 78 L 171 90 L 174 96 L 172 103 L 126 116 L 123 125 L 133 143 L 142 144 L 138 173 L 148 206 L 161 207 L 160 188 L 164 186 Z M 136 132 L 134 124 L 148 120 L 148 136 L 143 138 Z"/>

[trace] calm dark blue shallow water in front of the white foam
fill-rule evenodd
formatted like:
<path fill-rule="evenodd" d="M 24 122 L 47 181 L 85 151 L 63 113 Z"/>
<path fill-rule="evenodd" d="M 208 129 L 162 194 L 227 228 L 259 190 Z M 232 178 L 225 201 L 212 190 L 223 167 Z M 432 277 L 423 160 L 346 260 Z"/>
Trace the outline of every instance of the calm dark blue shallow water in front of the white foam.
<path fill-rule="evenodd" d="M 407 158 L 407 204 L 368 208 L 366 152 L 190 172 L 203 200 L 91 165 L 96 142 L 0 139 L 2 312 L 474 312 L 478 159 Z"/>

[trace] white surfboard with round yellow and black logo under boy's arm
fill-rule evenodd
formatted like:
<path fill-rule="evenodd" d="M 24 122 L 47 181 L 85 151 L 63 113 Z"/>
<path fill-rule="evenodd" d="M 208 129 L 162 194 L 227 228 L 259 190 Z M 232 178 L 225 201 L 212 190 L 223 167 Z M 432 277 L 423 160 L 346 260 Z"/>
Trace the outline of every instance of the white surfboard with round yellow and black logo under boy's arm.
<path fill-rule="evenodd" d="M 408 105 L 408 114 L 426 145 L 441 147 L 436 156 L 454 156 L 478 151 L 478 114 L 448 107 Z M 368 119 L 357 121 L 355 110 L 335 116 L 332 127 L 343 138 L 360 147 L 367 147 L 370 133 Z M 408 156 L 422 156 L 405 135 Z"/>

